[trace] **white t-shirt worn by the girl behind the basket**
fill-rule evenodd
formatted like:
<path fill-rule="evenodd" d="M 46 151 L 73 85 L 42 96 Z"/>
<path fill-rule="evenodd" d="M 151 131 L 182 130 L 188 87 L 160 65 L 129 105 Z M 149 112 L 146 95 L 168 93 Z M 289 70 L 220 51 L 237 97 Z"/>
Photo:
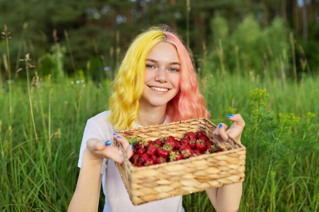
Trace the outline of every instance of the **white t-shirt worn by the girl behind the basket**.
<path fill-rule="evenodd" d="M 110 111 L 104 111 L 90 118 L 84 130 L 81 149 L 77 166 L 81 168 L 83 152 L 86 147 L 86 141 L 89 138 L 97 138 L 101 141 L 112 141 L 113 144 L 113 126 L 108 122 Z M 168 118 L 167 118 L 168 119 Z M 168 123 L 165 120 L 164 123 Z M 133 128 L 142 127 L 133 124 Z M 102 188 L 105 195 L 105 204 L 103 212 L 181 212 L 182 196 L 152 201 L 149 203 L 134 205 L 129 199 L 128 193 L 123 184 L 120 173 L 118 172 L 115 163 L 111 159 L 104 159 L 101 167 Z"/>

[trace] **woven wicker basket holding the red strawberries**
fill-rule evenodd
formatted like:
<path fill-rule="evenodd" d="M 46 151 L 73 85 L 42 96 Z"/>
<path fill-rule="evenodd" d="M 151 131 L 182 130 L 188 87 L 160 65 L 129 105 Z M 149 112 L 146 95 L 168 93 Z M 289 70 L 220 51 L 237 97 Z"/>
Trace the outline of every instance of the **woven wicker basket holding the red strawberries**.
<path fill-rule="evenodd" d="M 177 140 L 186 132 L 201 130 L 224 151 L 144 167 L 133 166 L 124 152 L 124 163 L 116 163 L 133 204 L 190 194 L 244 181 L 246 148 L 229 139 L 223 145 L 212 138 L 216 125 L 207 118 L 119 131 L 125 137 L 155 140 L 171 135 Z M 115 141 L 116 142 L 116 141 Z M 119 143 L 115 143 L 119 146 Z M 120 146 L 121 147 L 121 146 Z M 122 148 L 122 147 L 121 147 Z"/>

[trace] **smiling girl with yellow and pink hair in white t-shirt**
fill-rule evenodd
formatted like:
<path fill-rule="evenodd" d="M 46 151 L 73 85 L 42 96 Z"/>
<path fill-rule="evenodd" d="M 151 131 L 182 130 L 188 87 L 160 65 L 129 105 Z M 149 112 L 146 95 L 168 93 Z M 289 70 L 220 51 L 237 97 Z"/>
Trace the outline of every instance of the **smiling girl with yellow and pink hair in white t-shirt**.
<path fill-rule="evenodd" d="M 109 105 L 109 111 L 87 122 L 78 160 L 81 169 L 68 211 L 97 211 L 101 184 L 103 212 L 184 211 L 182 196 L 133 205 L 114 163 L 123 163 L 123 153 L 113 146 L 114 139 L 128 157 L 133 154 L 129 142 L 115 133 L 118 130 L 210 116 L 189 51 L 169 27 L 151 27 L 131 43 L 112 84 Z M 226 142 L 232 137 L 240 142 L 243 118 L 240 114 L 227 117 L 233 125 L 226 130 L 220 123 L 215 139 Z M 217 211 L 238 211 L 242 183 L 206 192 Z"/>

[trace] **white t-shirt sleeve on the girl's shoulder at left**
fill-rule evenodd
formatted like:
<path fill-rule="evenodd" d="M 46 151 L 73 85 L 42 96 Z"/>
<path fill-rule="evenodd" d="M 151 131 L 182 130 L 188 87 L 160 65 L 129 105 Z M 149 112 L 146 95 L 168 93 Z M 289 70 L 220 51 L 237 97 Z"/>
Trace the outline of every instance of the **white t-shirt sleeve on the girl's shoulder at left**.
<path fill-rule="evenodd" d="M 78 157 L 78 163 L 77 163 L 77 166 L 79 168 L 81 168 L 82 166 L 83 152 L 84 152 L 84 149 L 86 148 L 86 141 L 90 138 L 97 138 L 100 141 L 104 141 L 106 139 L 105 133 L 103 133 L 101 127 L 92 119 L 88 120 L 87 125 L 84 129 L 81 148 L 80 148 L 79 157 Z M 108 159 L 104 158 L 102 167 L 101 167 L 101 174 L 104 174 L 105 169 L 107 168 L 107 162 L 108 162 Z"/>

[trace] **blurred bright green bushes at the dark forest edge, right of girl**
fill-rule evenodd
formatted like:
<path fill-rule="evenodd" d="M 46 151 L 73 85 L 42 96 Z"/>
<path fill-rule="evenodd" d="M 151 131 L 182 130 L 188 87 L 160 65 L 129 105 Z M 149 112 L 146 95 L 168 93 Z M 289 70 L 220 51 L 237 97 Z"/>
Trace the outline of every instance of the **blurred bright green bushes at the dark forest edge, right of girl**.
<path fill-rule="evenodd" d="M 288 29 L 282 19 L 276 18 L 270 25 L 261 27 L 256 18 L 249 15 L 230 35 L 227 25 L 226 19 L 219 15 L 211 19 L 214 46 L 210 57 L 213 63 L 220 64 L 223 57 L 223 65 L 228 70 L 275 76 L 280 73 L 279 62 L 282 62 L 285 65 L 282 70 L 284 75 L 289 71 L 290 67 L 286 65 L 289 56 Z"/>

